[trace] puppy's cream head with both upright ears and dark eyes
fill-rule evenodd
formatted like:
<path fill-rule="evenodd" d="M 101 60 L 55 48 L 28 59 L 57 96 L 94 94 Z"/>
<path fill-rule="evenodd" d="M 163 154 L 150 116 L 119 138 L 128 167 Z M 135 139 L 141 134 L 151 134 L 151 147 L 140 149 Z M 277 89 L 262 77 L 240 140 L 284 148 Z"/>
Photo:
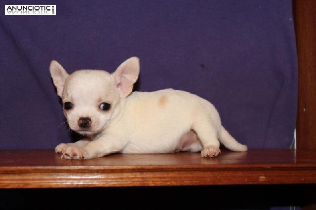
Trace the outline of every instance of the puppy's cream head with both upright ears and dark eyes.
<path fill-rule="evenodd" d="M 139 75 L 139 59 L 127 59 L 112 74 L 78 70 L 69 75 L 57 61 L 51 62 L 49 70 L 69 127 L 91 136 L 107 128 L 119 110 L 120 101 L 132 92 Z"/>

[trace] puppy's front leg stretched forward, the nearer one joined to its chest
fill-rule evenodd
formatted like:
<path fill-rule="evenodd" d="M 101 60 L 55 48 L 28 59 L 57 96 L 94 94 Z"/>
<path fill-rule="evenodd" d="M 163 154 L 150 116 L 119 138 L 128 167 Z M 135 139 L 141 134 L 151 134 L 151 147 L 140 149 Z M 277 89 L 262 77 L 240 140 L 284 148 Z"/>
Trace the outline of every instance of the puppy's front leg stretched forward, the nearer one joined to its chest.
<path fill-rule="evenodd" d="M 63 154 L 66 159 L 91 159 L 102 157 L 114 152 L 120 152 L 124 147 L 124 143 L 111 136 L 103 136 L 97 140 L 88 142 L 82 147 L 69 147 Z"/>

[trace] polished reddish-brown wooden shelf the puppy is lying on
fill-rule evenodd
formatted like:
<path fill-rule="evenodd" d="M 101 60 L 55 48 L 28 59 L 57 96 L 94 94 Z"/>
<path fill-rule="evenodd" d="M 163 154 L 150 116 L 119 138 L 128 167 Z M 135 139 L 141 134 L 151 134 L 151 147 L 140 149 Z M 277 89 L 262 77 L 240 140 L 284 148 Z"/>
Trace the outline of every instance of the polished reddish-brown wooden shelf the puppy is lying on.
<path fill-rule="evenodd" d="M 291 149 L 112 154 L 65 160 L 53 150 L 0 151 L 0 188 L 316 183 L 316 152 Z"/>

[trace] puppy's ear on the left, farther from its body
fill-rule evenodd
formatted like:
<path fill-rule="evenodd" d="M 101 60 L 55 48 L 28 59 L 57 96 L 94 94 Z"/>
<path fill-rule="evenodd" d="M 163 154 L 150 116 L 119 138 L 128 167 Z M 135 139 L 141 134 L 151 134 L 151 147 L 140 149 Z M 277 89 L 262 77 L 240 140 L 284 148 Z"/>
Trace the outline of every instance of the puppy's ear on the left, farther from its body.
<path fill-rule="evenodd" d="M 59 97 L 61 97 L 63 94 L 65 81 L 69 74 L 57 61 L 52 61 L 50 63 L 49 71 L 54 85 L 56 86 L 57 94 Z"/>

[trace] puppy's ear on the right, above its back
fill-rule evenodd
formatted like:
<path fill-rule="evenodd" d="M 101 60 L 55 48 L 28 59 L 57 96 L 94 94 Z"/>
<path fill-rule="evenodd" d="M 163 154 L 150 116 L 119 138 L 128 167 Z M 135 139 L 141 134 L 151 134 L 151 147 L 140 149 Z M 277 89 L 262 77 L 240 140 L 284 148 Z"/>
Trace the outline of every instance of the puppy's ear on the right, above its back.
<path fill-rule="evenodd" d="M 133 84 L 139 75 L 139 58 L 131 57 L 119 65 L 112 73 L 114 82 L 123 97 L 128 96 L 133 90 Z"/>

